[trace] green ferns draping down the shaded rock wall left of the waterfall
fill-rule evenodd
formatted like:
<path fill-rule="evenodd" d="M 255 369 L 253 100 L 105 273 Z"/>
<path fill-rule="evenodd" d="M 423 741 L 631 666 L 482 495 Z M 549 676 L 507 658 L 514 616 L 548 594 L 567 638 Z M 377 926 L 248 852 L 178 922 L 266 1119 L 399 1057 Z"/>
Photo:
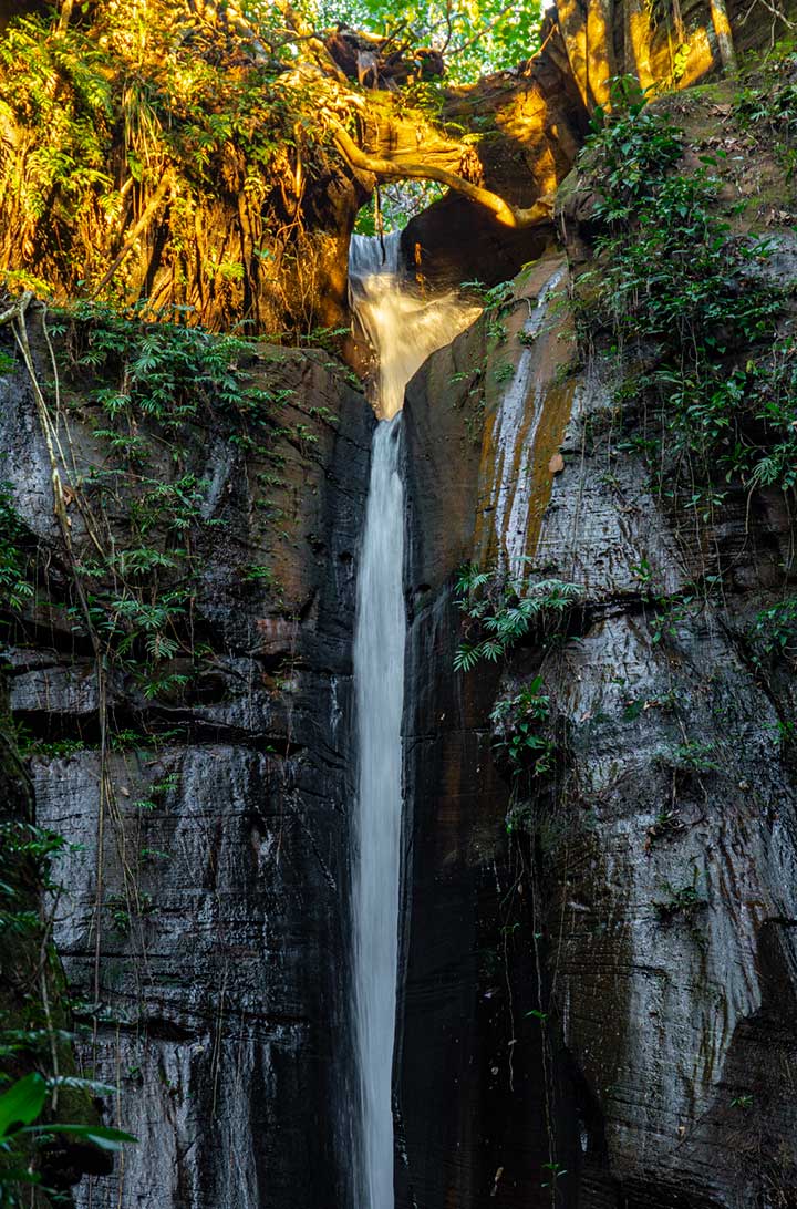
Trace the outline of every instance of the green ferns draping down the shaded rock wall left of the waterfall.
<path fill-rule="evenodd" d="M 91 555 L 74 568 L 80 590 L 68 615 L 75 631 L 99 643 L 105 665 L 131 675 L 146 699 L 179 698 L 202 666 L 194 601 L 202 544 L 221 523 L 209 515 L 209 485 L 191 463 L 207 462 L 209 436 L 271 461 L 289 393 L 253 380 L 258 352 L 248 341 L 146 322 L 135 310 L 77 303 L 57 314 L 54 334 L 67 349 L 82 417 L 96 417 L 94 436 L 106 450 L 73 486 L 83 516 L 103 523 L 92 531 Z M 13 550 L 6 553 L 7 578 L 18 584 Z"/>

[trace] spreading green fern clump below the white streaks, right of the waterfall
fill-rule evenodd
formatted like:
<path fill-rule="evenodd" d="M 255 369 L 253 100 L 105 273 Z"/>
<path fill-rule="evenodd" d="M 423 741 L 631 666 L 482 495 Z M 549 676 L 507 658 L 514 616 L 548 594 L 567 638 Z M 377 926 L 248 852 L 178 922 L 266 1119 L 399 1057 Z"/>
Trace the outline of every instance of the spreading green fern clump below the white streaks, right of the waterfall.
<path fill-rule="evenodd" d="M 466 634 L 484 635 L 461 643 L 454 659 L 456 671 L 469 671 L 483 659 L 496 663 L 535 629 L 544 631 L 553 618 L 561 620 L 582 596 L 577 584 L 561 579 L 535 580 L 481 571 L 474 563 L 462 568 L 455 591 L 455 602 L 467 618 Z"/>

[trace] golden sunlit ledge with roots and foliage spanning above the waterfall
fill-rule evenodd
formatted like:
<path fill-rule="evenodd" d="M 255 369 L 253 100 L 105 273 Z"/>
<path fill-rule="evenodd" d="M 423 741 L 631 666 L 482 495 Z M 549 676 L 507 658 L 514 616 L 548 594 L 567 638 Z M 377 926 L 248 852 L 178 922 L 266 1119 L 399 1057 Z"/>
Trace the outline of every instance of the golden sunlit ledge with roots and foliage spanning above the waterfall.
<path fill-rule="evenodd" d="M 39 4 L 12 7 L 41 22 Z M 791 0 L 782 10 L 694 0 L 674 13 L 635 0 L 566 0 L 547 15 L 533 58 L 444 91 L 432 112 L 347 80 L 304 34 L 308 65 L 272 62 L 226 7 L 166 5 L 145 65 L 112 5 L 69 4 L 52 27 L 4 27 L 13 53 L 2 68 L 2 270 L 60 301 L 146 300 L 152 312 L 187 308 L 212 329 L 336 328 L 347 316 L 350 235 L 377 180 L 341 151 L 341 137 L 381 163 L 380 174 L 426 166 L 486 191 L 492 213 L 544 222 L 541 199 L 572 168 L 612 76 L 683 87 L 727 64 L 728 46 L 762 48 L 793 16 Z M 59 158 L 36 161 L 42 135 Z M 441 273 L 443 227 L 461 226 L 463 242 L 478 231 L 487 254 L 502 247 L 490 209 L 474 216 L 475 203 L 452 192 L 411 236 L 412 262 L 432 278 Z M 497 268 L 516 271 L 527 251 L 513 261 L 502 250 Z"/>

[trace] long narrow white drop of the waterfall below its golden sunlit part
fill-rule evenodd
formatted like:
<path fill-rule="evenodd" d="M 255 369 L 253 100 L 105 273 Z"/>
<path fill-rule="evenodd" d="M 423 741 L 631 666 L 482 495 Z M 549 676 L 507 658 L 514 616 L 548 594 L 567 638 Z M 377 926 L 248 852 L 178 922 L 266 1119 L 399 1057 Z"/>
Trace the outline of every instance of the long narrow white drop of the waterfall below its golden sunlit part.
<path fill-rule="evenodd" d="M 398 970 L 404 705 L 404 491 L 400 416 L 374 435 L 359 572 L 354 683 L 359 735 L 354 864 L 354 1029 L 360 1087 L 362 1209 L 393 1205 L 391 1081 Z"/>

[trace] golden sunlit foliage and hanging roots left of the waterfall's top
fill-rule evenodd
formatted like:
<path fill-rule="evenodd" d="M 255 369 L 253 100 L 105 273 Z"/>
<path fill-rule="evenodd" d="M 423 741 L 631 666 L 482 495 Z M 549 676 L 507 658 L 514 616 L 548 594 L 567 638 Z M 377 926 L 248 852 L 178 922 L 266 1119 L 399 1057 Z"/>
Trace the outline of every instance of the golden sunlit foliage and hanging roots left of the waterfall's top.
<path fill-rule="evenodd" d="M 312 244 L 294 193 L 305 163 L 327 158 L 322 115 L 340 108 L 337 82 L 296 70 L 307 42 L 271 4 L 247 5 L 250 31 L 224 5 L 219 17 L 172 0 L 81 7 L 65 28 L 54 13 L 4 23 L 7 283 L 132 299 L 160 270 L 166 295 L 203 318 L 254 313 L 279 330 L 301 310 L 281 270 Z"/>

